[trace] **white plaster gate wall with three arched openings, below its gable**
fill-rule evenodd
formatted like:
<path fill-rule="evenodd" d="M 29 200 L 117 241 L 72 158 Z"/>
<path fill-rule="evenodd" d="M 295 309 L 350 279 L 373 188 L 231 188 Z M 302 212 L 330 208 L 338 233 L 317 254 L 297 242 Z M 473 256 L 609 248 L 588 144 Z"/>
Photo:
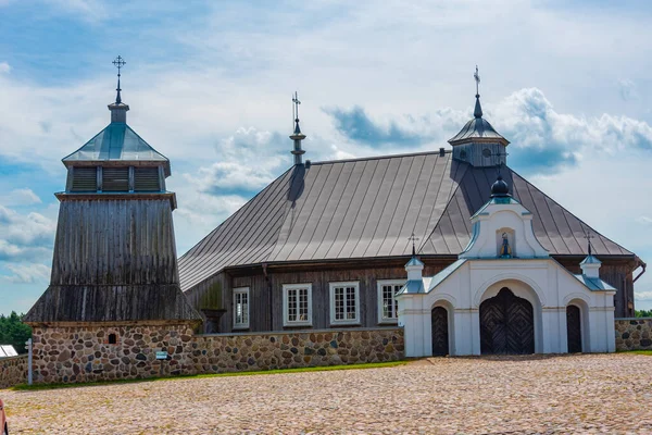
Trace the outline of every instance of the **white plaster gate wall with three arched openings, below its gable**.
<path fill-rule="evenodd" d="M 580 308 L 584 351 L 615 351 L 612 291 L 589 290 L 552 259 L 496 259 L 468 260 L 428 293 L 399 297 L 405 355 L 431 355 L 436 306 L 449 310 L 450 353 L 480 355 L 480 303 L 503 287 L 532 304 L 536 352 L 567 352 L 566 306 L 572 302 Z"/>

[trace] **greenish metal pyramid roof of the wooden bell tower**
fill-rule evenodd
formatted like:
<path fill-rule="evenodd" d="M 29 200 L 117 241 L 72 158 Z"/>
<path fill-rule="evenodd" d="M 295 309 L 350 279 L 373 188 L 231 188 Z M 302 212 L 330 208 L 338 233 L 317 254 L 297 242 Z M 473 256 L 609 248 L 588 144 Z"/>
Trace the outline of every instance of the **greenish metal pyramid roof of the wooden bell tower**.
<path fill-rule="evenodd" d="M 165 166 L 165 175 L 170 175 L 167 158 L 122 122 L 112 122 L 62 161 L 66 165 L 75 162 L 162 162 Z"/>

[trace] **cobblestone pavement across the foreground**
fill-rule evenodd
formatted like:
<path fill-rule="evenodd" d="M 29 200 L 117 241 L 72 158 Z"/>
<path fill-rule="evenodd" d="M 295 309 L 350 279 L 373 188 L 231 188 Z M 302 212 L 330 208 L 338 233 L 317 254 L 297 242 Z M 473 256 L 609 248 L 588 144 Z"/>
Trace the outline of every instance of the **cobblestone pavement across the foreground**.
<path fill-rule="evenodd" d="M 0 396 L 12 434 L 650 434 L 652 357 L 437 358 Z"/>

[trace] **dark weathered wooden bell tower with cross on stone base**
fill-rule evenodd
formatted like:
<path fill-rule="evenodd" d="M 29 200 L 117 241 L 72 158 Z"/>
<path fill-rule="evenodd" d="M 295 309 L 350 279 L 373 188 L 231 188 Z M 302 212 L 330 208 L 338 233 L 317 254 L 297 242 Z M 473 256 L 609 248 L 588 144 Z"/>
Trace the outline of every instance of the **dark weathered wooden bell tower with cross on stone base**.
<path fill-rule="evenodd" d="M 41 337 L 35 339 L 37 369 L 47 366 L 50 357 L 40 344 L 52 331 L 59 336 L 83 331 L 84 346 L 116 356 L 123 338 L 133 343 L 126 338 L 135 327 L 159 334 L 171 327 L 188 331 L 201 321 L 179 286 L 172 219 L 176 196 L 165 188 L 170 160 L 127 125 L 129 107 L 120 87 L 125 62 L 118 57 L 113 63 L 118 85 L 109 104 L 111 123 L 63 159 L 65 190 L 54 194 L 60 208 L 50 286 L 25 318 Z M 128 361 L 135 357 L 128 355 L 113 363 L 85 355 L 75 362 L 82 365 L 67 368 L 70 373 L 46 370 L 40 381 L 92 380 L 106 371 L 116 377 L 142 375 L 139 366 L 131 370 L 140 361 Z"/>

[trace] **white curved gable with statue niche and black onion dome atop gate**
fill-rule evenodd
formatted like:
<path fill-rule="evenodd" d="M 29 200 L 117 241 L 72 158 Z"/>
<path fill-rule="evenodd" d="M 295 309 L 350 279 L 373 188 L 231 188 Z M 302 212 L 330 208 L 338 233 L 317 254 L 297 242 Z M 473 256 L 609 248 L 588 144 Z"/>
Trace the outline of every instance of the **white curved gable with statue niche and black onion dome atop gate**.
<path fill-rule="evenodd" d="M 510 195 L 499 175 L 491 198 L 472 217 L 471 241 L 461 259 L 547 258 L 532 231 L 532 213 Z"/>

